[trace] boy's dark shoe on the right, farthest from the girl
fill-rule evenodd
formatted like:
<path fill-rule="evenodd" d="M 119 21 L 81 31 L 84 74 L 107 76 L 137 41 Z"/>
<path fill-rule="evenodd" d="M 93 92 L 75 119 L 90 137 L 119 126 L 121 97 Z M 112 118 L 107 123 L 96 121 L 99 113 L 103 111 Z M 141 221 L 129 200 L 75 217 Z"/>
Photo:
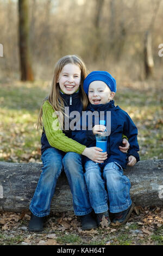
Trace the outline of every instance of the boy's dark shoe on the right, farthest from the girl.
<path fill-rule="evenodd" d="M 114 214 L 114 218 L 112 220 L 113 225 L 122 225 L 126 223 L 131 215 L 131 212 L 134 210 L 134 207 L 135 204 L 132 203 L 127 210 Z"/>

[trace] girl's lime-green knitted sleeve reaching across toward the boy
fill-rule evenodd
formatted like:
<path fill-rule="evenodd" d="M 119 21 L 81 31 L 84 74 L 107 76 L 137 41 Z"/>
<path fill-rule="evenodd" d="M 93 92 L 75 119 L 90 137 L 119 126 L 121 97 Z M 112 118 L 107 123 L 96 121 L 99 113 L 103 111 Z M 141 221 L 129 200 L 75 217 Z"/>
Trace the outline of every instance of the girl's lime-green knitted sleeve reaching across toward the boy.
<path fill-rule="evenodd" d="M 59 120 L 56 115 L 53 114 L 54 109 L 48 101 L 43 103 L 42 112 L 43 127 L 49 144 L 64 152 L 72 151 L 82 154 L 86 148 L 85 145 L 68 138 L 65 133 L 62 132 L 59 126 Z"/>

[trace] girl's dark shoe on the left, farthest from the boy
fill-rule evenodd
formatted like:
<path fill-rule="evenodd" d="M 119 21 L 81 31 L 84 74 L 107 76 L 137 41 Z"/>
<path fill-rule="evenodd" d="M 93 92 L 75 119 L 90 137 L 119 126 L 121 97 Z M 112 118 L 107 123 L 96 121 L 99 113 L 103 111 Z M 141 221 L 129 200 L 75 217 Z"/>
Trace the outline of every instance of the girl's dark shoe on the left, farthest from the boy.
<path fill-rule="evenodd" d="M 46 217 L 37 217 L 31 213 L 28 230 L 29 231 L 42 231 L 43 223 Z"/>

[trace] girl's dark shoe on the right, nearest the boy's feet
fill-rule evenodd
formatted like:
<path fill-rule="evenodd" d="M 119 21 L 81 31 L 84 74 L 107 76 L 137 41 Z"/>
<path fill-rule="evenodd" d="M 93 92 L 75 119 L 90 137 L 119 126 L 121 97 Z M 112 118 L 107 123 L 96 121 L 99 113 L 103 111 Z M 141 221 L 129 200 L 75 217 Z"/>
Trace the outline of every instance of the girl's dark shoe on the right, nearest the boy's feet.
<path fill-rule="evenodd" d="M 80 222 L 82 223 L 83 230 L 90 230 L 92 228 L 97 228 L 97 223 L 91 213 L 80 216 Z"/>

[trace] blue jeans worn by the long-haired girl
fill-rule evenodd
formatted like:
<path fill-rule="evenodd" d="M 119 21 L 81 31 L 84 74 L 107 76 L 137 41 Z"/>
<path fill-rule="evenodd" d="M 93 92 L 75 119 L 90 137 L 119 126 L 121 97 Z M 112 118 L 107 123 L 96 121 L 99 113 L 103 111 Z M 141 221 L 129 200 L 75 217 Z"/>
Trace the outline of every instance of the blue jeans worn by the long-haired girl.
<path fill-rule="evenodd" d="M 84 179 L 82 156 L 49 148 L 43 152 L 41 160 L 42 173 L 30 202 L 30 211 L 37 217 L 49 215 L 51 200 L 63 166 L 72 192 L 74 214 L 89 214 L 92 208 Z"/>

